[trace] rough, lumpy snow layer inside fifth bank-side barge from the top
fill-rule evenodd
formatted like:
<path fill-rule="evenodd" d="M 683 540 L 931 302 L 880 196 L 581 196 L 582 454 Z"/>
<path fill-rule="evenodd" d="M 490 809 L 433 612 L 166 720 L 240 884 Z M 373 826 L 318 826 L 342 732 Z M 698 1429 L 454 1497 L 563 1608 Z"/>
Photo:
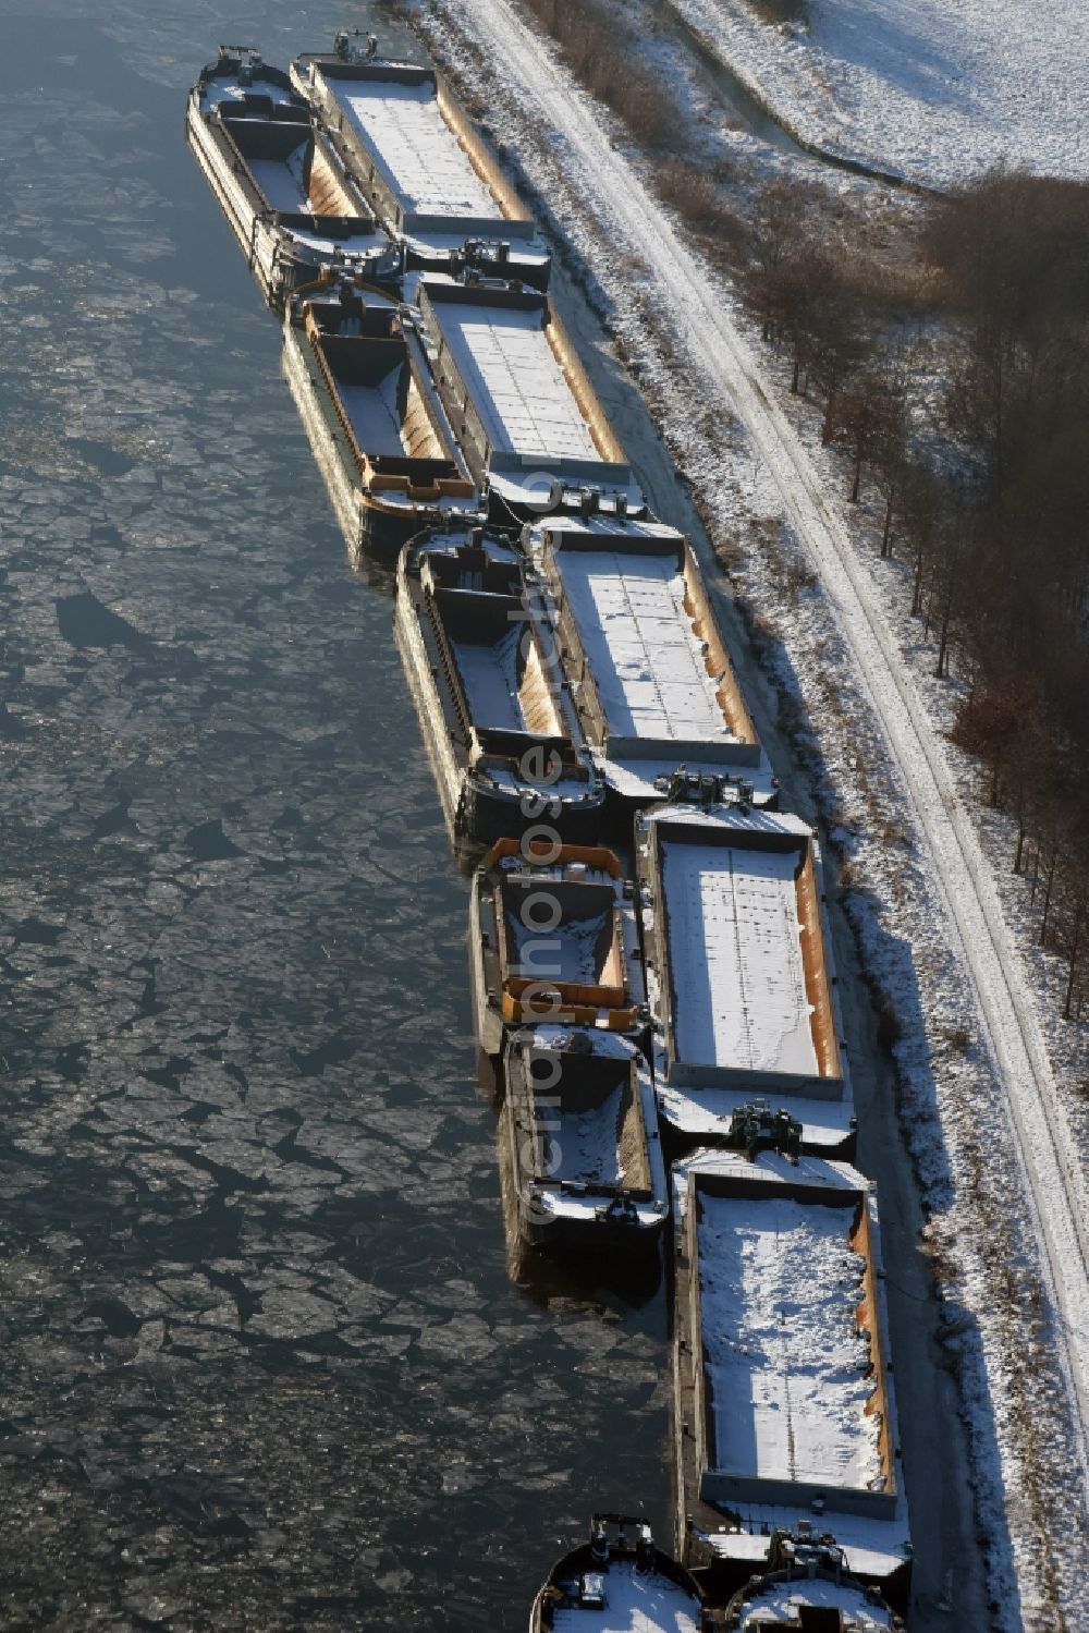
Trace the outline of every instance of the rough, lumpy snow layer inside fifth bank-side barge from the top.
<path fill-rule="evenodd" d="M 851 1212 L 774 1197 L 700 1199 L 704 1367 L 715 1466 L 869 1489 L 882 1478 L 870 1354 L 859 1331 L 862 1257 Z"/>

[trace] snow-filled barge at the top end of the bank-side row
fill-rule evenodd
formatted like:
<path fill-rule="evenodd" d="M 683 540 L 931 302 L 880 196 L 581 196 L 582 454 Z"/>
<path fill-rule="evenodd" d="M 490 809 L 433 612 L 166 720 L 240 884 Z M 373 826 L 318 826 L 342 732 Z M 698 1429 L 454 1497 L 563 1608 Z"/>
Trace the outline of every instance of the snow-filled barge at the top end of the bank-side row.
<path fill-rule="evenodd" d="M 534 219 L 434 69 L 348 47 L 299 57 L 291 80 L 359 173 L 407 271 L 475 268 L 547 289 L 552 256 Z"/>

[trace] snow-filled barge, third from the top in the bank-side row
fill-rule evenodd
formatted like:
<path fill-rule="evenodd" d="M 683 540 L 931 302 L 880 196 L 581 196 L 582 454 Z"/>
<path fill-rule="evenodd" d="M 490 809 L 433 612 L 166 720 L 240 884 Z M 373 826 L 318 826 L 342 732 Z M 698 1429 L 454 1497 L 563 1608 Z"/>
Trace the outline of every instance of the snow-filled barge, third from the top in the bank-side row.
<path fill-rule="evenodd" d="M 627 812 L 678 766 L 779 789 L 682 534 L 655 521 L 549 516 L 526 549 L 555 603 L 583 730 Z"/>

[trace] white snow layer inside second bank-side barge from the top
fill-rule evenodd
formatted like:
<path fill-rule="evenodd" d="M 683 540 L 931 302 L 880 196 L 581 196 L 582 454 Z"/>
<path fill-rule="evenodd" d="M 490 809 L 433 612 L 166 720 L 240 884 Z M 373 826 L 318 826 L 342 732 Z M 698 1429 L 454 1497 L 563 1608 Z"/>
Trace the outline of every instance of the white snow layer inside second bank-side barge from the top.
<path fill-rule="evenodd" d="M 442 336 L 498 452 L 599 459 L 540 325 L 540 312 L 444 305 Z"/>

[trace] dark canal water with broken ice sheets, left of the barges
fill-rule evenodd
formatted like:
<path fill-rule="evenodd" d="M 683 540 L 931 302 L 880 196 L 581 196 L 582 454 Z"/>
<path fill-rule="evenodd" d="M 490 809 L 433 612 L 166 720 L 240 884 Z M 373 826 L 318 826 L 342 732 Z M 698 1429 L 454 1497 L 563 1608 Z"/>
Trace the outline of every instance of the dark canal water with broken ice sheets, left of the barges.
<path fill-rule="evenodd" d="M 5 1626 L 521 1630 L 666 1530 L 661 1293 L 508 1279 L 389 588 L 183 140 L 341 21 L 5 7 Z"/>

